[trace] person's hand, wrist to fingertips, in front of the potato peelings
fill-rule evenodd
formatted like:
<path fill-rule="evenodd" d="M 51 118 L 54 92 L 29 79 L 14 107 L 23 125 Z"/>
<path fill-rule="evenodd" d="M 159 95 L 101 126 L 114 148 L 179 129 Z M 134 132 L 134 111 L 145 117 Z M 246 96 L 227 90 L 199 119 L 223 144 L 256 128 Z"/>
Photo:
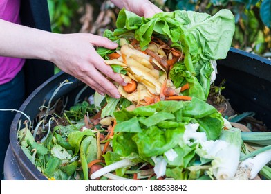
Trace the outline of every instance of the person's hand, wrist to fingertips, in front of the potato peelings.
<path fill-rule="evenodd" d="M 55 34 L 50 43 L 53 53 L 50 53 L 50 61 L 59 69 L 78 78 L 86 85 L 95 89 L 100 94 L 109 94 L 113 98 L 120 98 L 118 89 L 113 81 L 120 85 L 126 85 L 118 73 L 114 73 L 111 67 L 95 51 L 93 46 L 102 46 L 115 49 L 118 44 L 111 42 L 106 37 L 91 34 Z M 111 78 L 109 81 L 105 76 Z"/>

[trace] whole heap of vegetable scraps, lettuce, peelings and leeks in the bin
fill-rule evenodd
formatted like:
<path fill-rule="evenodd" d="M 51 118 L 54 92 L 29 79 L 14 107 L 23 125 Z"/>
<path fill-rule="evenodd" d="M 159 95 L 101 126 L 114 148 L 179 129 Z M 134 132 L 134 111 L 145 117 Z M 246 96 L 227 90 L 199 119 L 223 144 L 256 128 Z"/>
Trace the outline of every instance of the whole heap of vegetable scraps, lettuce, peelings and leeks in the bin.
<path fill-rule="evenodd" d="M 230 10 L 144 18 L 123 9 L 116 26 L 104 36 L 119 47 L 97 52 L 127 82 L 114 82 L 122 97 L 96 92 L 68 109 L 61 98 L 19 127 L 21 149 L 44 176 L 271 179 L 270 132 L 230 122 L 230 104 L 210 92 L 234 34 Z M 214 106 L 218 97 L 227 108 Z"/>

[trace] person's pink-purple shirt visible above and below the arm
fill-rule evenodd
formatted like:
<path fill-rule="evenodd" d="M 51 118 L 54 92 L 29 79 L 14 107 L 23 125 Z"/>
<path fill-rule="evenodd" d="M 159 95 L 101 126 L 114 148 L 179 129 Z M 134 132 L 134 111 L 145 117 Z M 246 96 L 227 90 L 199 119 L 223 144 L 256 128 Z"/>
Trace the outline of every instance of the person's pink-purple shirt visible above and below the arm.
<path fill-rule="evenodd" d="M 19 9 L 20 0 L 0 0 L 0 19 L 20 24 Z M 23 67 L 24 61 L 0 56 L 0 85 L 12 80 Z"/>

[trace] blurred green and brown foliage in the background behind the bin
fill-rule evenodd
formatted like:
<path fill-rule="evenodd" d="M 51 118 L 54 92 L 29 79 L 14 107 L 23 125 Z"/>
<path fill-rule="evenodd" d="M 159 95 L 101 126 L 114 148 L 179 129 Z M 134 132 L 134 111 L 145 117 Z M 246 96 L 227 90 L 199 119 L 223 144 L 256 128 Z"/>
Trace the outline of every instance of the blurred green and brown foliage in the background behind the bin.
<path fill-rule="evenodd" d="M 232 47 L 256 53 L 271 60 L 271 0 L 154 0 L 165 11 L 194 10 L 214 15 L 227 8 L 235 16 Z M 118 8 L 102 0 L 48 0 L 52 30 L 55 33 L 93 33 L 115 28 Z"/>

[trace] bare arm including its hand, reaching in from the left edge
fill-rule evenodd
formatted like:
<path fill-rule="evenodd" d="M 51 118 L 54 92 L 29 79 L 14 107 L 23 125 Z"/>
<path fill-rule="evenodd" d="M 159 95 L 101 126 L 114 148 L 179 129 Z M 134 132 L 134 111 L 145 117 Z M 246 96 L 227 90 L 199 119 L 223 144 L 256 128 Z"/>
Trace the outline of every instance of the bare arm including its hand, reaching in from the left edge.
<path fill-rule="evenodd" d="M 56 34 L 12 24 L 0 19 L 0 55 L 48 60 L 62 71 L 82 80 L 100 94 L 119 98 L 112 80 L 124 84 L 118 73 L 97 54 L 93 46 L 114 49 L 118 45 L 105 37 L 91 34 Z"/>

